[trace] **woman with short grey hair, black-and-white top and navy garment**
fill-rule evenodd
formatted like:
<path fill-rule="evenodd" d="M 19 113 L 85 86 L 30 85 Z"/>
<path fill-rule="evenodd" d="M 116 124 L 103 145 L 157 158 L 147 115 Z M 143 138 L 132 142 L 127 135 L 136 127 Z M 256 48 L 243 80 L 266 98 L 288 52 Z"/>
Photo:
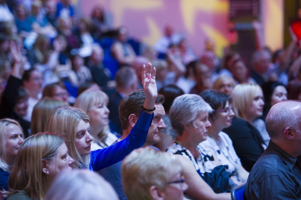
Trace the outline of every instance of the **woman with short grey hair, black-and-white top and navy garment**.
<path fill-rule="evenodd" d="M 230 173 L 225 171 L 224 166 L 216 167 L 211 151 L 199 145 L 207 139 L 208 129 L 211 127 L 208 116 L 212 111 L 210 105 L 199 95 L 178 96 L 169 110 L 170 121 L 177 138 L 175 143 L 167 148 L 167 152 L 180 154 L 189 159 L 214 192 L 230 192 L 233 187 L 229 184 Z M 206 168 L 214 170 L 207 173 Z M 217 177 L 220 178 L 219 181 Z"/>

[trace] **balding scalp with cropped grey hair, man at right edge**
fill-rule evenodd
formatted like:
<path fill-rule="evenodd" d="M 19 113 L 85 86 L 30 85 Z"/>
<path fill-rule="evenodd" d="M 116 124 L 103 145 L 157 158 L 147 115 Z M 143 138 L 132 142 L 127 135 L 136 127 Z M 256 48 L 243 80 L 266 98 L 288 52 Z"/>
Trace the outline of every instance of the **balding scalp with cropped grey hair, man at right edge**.
<path fill-rule="evenodd" d="M 266 119 L 266 129 L 272 141 L 283 140 L 284 131 L 290 128 L 300 132 L 301 102 L 283 101 L 270 109 Z"/>

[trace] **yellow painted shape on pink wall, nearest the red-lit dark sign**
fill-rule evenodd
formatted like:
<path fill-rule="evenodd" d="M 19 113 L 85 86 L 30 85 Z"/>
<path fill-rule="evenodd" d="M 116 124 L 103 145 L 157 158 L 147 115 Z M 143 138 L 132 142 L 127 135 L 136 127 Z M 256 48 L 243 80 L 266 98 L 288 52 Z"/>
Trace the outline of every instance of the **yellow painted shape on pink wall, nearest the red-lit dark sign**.
<path fill-rule="evenodd" d="M 229 45 L 227 38 L 220 33 L 217 29 L 206 25 L 201 24 L 201 29 L 207 35 L 208 38 L 211 38 L 215 42 L 215 53 L 218 57 L 223 56 L 224 47 Z"/>

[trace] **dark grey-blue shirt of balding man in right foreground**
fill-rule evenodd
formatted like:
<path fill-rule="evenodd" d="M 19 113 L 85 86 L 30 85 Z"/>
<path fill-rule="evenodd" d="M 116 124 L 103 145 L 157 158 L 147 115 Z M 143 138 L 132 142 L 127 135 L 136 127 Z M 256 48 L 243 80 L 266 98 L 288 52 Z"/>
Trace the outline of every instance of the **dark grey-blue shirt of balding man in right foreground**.
<path fill-rule="evenodd" d="M 289 155 L 270 141 L 250 172 L 245 195 L 247 200 L 301 199 L 300 184 L 300 158 Z"/>

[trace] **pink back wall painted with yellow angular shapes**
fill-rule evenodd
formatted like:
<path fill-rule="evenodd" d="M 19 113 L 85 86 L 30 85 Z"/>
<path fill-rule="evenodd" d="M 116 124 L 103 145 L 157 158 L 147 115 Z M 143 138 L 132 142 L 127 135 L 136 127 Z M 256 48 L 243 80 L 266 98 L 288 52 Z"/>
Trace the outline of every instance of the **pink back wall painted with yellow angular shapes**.
<path fill-rule="evenodd" d="M 101 4 L 113 15 L 114 27 L 124 25 L 130 36 L 152 45 L 170 24 L 184 33 L 195 53 L 204 49 L 210 37 L 220 56 L 228 45 L 228 0 L 73 0 L 78 16 L 89 16 Z"/>

